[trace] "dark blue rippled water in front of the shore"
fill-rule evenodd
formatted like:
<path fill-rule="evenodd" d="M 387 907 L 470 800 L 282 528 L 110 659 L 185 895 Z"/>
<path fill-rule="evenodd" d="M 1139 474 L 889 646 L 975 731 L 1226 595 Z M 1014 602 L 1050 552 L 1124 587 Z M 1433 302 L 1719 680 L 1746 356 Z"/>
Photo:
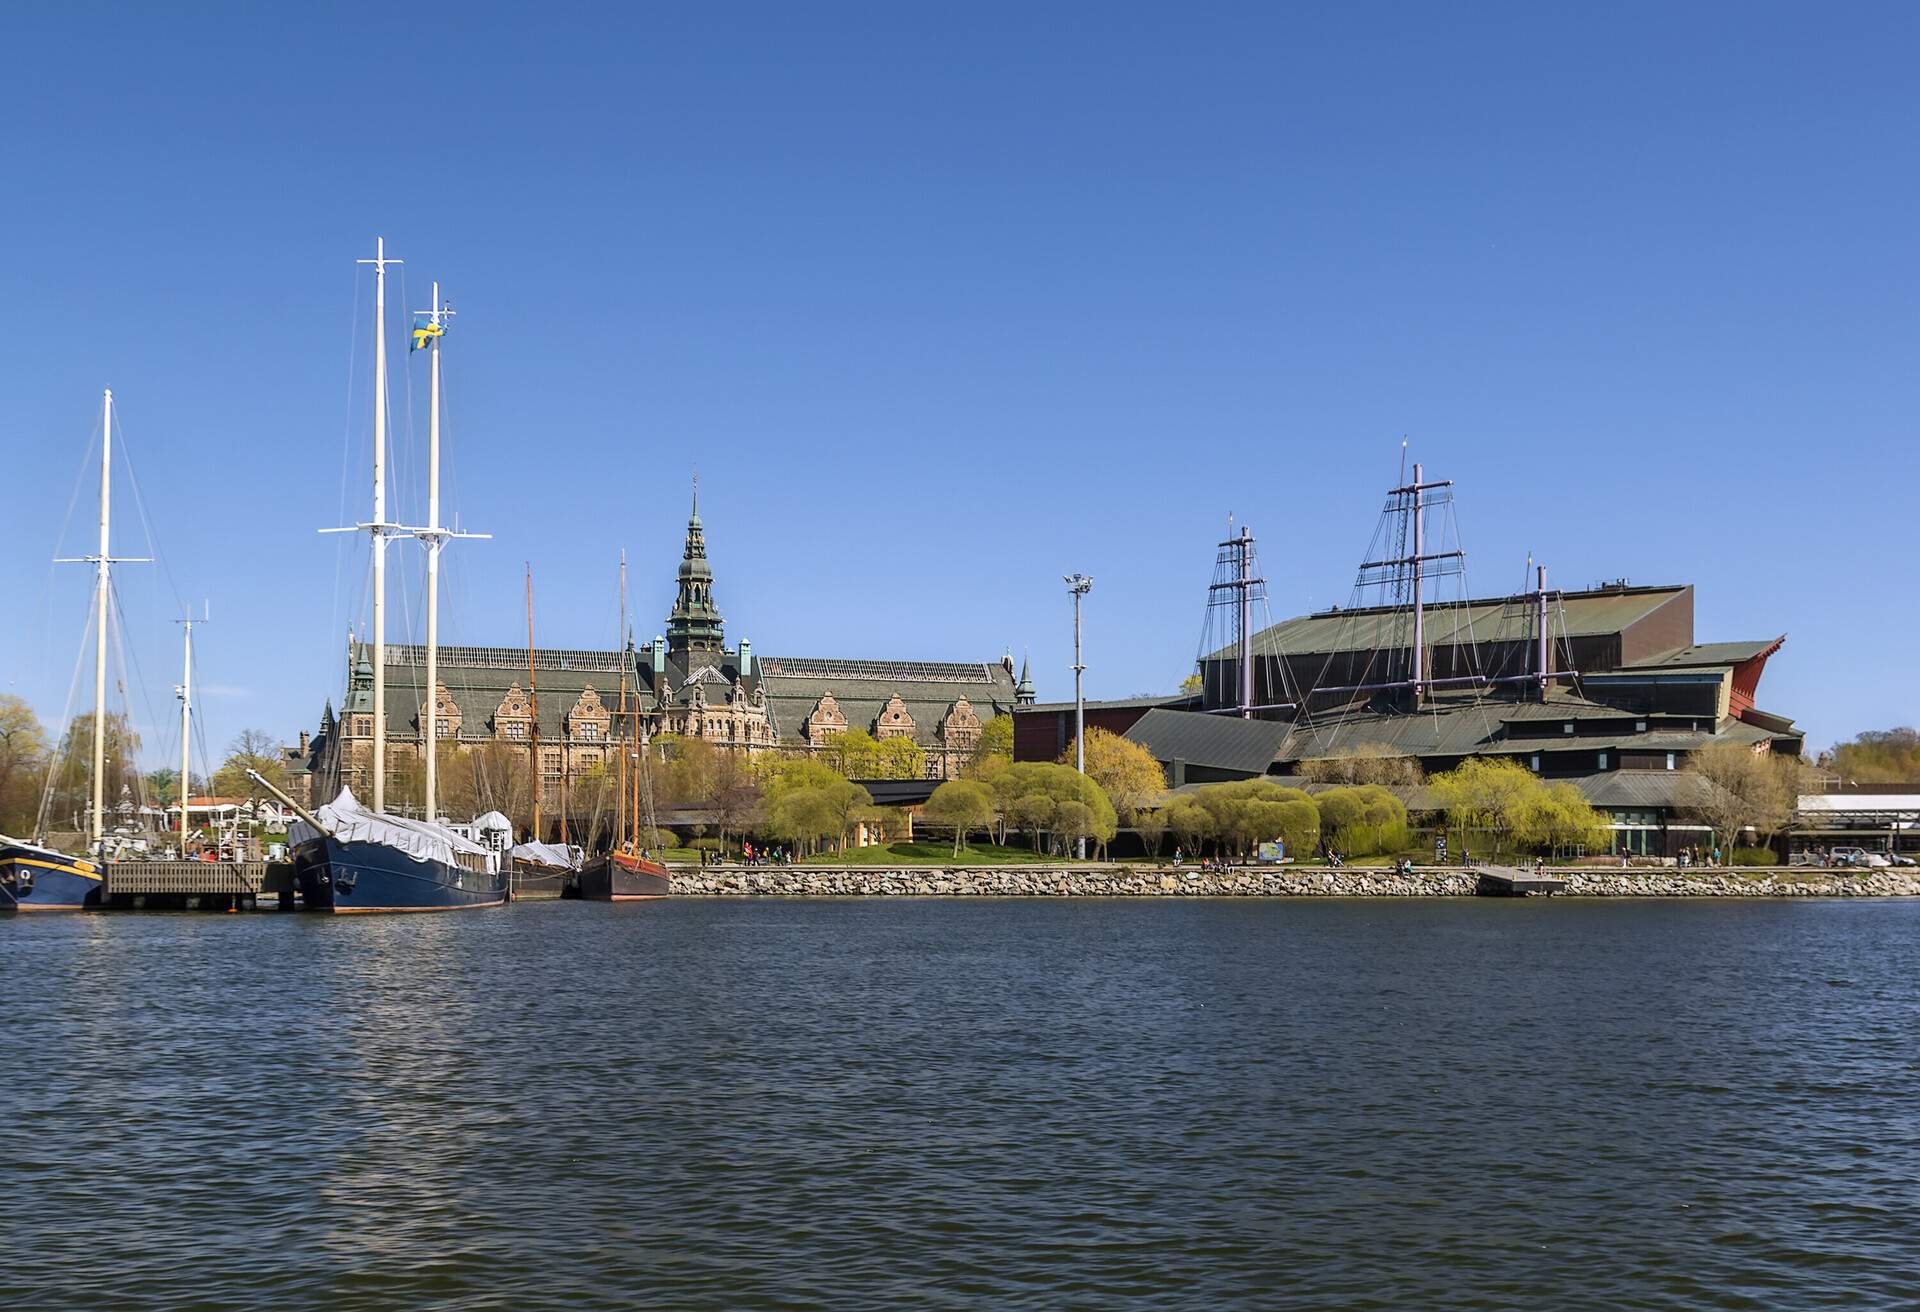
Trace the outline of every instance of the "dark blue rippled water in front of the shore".
<path fill-rule="evenodd" d="M 1920 1304 L 1920 903 L 0 924 L 0 1306 Z"/>

